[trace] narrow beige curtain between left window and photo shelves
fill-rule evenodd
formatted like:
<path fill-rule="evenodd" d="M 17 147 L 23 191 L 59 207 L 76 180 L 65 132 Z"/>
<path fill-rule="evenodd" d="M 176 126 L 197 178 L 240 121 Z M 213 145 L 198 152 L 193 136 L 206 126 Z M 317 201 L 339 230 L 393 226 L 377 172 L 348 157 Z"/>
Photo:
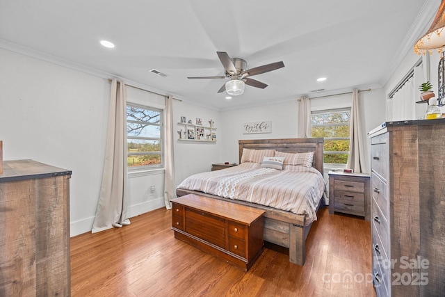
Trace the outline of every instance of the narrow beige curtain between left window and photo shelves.
<path fill-rule="evenodd" d="M 165 99 L 164 117 L 164 200 L 167 209 L 172 208 L 170 200 L 176 197 L 175 192 L 175 157 L 173 154 L 173 97 Z"/>

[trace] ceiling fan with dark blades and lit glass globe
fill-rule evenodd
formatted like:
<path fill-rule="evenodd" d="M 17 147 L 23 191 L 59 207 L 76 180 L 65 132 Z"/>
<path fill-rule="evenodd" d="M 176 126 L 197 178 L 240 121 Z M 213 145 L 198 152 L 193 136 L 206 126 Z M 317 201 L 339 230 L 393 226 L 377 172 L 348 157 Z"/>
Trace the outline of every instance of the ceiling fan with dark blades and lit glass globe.
<path fill-rule="evenodd" d="M 254 67 L 249 70 L 245 70 L 247 63 L 241 58 L 230 58 L 225 51 L 217 51 L 218 58 L 223 63 L 225 69 L 225 76 L 221 77 L 188 77 L 188 79 L 229 79 L 219 90 L 218 93 L 227 92 L 229 95 L 237 96 L 244 92 L 244 85 L 252 86 L 255 88 L 266 88 L 266 83 L 261 83 L 255 79 L 250 79 L 257 74 L 277 70 L 284 67 L 284 63 L 275 62 L 259 67 Z"/>

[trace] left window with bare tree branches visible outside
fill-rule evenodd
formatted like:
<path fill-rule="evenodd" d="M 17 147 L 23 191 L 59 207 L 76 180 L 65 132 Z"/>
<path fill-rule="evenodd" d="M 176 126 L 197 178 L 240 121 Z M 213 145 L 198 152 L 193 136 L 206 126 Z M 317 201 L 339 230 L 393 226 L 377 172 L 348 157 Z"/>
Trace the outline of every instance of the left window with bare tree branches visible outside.
<path fill-rule="evenodd" d="M 127 163 L 129 170 L 163 166 L 162 111 L 127 104 Z"/>

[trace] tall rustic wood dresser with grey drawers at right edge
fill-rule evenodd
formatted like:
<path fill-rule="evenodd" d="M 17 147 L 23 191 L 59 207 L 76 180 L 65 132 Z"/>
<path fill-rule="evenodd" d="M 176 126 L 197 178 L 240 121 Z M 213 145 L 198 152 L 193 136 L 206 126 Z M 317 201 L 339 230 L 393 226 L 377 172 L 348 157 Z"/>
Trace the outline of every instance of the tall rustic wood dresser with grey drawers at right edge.
<path fill-rule="evenodd" d="M 377 296 L 444 296 L 445 119 L 385 122 L 369 137 Z"/>

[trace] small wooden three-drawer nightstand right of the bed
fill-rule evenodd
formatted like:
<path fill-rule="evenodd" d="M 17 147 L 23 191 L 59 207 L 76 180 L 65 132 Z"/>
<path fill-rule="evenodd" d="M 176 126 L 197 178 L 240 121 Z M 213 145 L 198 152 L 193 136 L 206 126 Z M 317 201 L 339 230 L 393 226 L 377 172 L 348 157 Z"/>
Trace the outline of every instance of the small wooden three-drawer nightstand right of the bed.
<path fill-rule="evenodd" d="M 364 173 L 330 171 L 329 175 L 329 213 L 371 216 L 371 176 Z"/>

